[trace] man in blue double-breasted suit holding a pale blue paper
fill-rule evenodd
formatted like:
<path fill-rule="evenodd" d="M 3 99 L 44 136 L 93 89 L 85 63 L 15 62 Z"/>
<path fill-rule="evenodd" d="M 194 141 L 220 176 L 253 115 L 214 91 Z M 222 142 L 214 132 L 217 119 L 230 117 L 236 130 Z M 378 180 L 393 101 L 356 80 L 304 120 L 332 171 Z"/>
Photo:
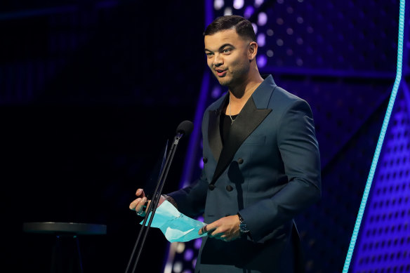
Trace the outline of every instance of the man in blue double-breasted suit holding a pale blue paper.
<path fill-rule="evenodd" d="M 310 106 L 256 65 L 251 22 L 214 20 L 204 32 L 208 66 L 227 95 L 202 121 L 204 170 L 161 197 L 209 223 L 195 272 L 302 272 L 293 218 L 321 196 L 319 147 Z M 144 215 L 143 189 L 130 208 Z"/>

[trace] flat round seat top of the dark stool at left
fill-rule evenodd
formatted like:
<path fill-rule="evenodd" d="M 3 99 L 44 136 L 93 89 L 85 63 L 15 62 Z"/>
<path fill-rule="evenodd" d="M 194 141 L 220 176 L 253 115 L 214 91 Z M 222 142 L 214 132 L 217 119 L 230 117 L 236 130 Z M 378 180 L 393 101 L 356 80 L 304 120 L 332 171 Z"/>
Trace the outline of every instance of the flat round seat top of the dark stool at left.
<path fill-rule="evenodd" d="M 107 234 L 106 225 L 85 224 L 79 222 L 25 222 L 24 232 L 74 234 L 74 235 L 103 235 Z"/>

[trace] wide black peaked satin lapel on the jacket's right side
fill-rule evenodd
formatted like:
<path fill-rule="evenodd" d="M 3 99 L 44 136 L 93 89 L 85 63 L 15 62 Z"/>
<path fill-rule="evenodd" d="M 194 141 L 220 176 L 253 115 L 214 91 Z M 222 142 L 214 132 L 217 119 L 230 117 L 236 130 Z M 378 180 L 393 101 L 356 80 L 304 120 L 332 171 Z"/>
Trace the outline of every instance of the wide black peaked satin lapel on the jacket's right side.
<path fill-rule="evenodd" d="M 218 177 L 223 173 L 225 168 L 232 161 L 234 154 L 242 145 L 244 140 L 255 131 L 259 124 L 265 119 L 272 109 L 256 109 L 253 98 L 249 98 L 248 102 L 242 108 L 234 123 L 230 128 L 227 141 L 220 152 L 218 164 L 216 165 L 215 173 L 213 173 L 212 184 L 216 182 Z M 218 126 L 219 128 L 219 126 Z M 219 133 L 219 131 L 218 131 Z"/>

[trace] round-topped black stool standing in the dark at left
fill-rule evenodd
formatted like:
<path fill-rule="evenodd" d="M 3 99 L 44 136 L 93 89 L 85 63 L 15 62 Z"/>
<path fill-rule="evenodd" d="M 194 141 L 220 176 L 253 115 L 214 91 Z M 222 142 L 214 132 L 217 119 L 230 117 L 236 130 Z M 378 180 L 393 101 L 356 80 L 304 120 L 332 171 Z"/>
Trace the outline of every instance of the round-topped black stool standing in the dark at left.
<path fill-rule="evenodd" d="M 107 226 L 77 222 L 25 222 L 23 231 L 55 235 L 51 272 L 83 273 L 78 236 L 107 234 Z"/>

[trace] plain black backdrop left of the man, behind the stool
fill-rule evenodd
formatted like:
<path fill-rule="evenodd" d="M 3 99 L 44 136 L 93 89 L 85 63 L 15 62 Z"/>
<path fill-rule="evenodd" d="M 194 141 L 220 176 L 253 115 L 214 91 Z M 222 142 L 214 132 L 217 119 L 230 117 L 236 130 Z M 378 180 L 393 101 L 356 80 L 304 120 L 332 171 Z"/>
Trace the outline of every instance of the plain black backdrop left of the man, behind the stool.
<path fill-rule="evenodd" d="M 85 272 L 124 272 L 129 211 L 166 140 L 192 120 L 204 70 L 201 1 L 2 1 L 1 243 L 6 272 L 49 272 L 55 238 L 24 222 L 107 225 L 80 237 Z M 178 188 L 187 139 L 164 192 Z M 137 272 L 160 272 L 151 229 Z M 3 260 L 3 259 L 2 259 Z"/>

